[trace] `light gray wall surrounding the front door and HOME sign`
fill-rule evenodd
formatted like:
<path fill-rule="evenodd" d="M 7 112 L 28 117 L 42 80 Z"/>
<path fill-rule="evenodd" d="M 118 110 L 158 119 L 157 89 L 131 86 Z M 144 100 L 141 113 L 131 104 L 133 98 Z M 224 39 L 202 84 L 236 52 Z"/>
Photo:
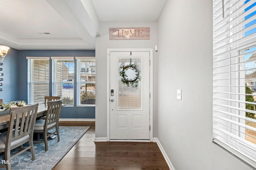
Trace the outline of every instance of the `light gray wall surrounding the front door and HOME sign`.
<path fill-rule="evenodd" d="M 110 27 L 150 27 L 149 40 L 110 40 Z M 96 137 L 107 137 L 107 117 L 106 117 L 106 69 L 107 69 L 107 49 L 154 49 L 157 45 L 157 22 L 101 22 L 101 36 L 96 37 Z M 153 52 L 153 88 L 154 88 L 154 135 L 157 132 L 157 52 Z M 154 136 L 153 135 L 153 136 Z"/>

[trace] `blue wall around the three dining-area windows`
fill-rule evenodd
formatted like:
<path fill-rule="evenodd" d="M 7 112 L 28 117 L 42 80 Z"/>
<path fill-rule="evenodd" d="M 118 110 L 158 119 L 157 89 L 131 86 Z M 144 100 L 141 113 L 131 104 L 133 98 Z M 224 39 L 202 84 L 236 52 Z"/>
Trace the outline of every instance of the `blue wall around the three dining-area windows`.
<path fill-rule="evenodd" d="M 20 50 L 18 51 L 17 78 L 19 82 L 19 100 L 28 101 L 28 61 L 26 57 L 94 57 L 94 50 Z M 16 60 L 17 61 L 17 60 Z M 52 70 L 52 60 L 50 59 L 50 73 Z M 74 61 L 76 65 L 76 61 Z M 74 74 L 74 77 L 76 74 Z M 50 75 L 51 78 L 51 75 Z M 51 84 L 51 80 L 50 80 Z M 50 85 L 51 91 L 51 85 Z M 76 82 L 74 82 L 74 92 L 76 92 Z M 51 92 L 50 92 L 51 95 Z M 15 99 L 16 100 L 16 99 Z M 74 94 L 74 106 L 62 108 L 60 118 L 70 119 L 95 119 L 95 107 L 76 107 L 76 93 Z"/>

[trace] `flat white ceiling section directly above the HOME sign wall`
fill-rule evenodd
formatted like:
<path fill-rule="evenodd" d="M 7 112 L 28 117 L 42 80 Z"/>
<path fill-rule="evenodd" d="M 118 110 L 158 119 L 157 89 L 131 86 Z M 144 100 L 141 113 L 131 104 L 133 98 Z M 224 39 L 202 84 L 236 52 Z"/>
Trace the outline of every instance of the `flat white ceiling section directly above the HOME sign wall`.
<path fill-rule="evenodd" d="M 157 21 L 166 0 L 92 0 L 100 21 Z"/>

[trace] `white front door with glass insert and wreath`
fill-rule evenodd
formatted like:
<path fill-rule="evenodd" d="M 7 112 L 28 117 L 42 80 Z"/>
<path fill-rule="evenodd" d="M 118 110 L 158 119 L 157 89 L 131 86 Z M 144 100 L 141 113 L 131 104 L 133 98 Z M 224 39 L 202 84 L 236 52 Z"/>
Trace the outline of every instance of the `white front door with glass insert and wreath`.
<path fill-rule="evenodd" d="M 150 52 L 110 52 L 110 139 L 150 139 Z"/>

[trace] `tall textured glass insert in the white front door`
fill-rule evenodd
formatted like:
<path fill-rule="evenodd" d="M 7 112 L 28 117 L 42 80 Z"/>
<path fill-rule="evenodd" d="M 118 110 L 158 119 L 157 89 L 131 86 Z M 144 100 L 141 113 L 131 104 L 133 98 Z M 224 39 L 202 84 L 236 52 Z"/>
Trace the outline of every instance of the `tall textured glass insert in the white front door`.
<path fill-rule="evenodd" d="M 118 109 L 141 109 L 141 58 L 118 59 Z"/>

